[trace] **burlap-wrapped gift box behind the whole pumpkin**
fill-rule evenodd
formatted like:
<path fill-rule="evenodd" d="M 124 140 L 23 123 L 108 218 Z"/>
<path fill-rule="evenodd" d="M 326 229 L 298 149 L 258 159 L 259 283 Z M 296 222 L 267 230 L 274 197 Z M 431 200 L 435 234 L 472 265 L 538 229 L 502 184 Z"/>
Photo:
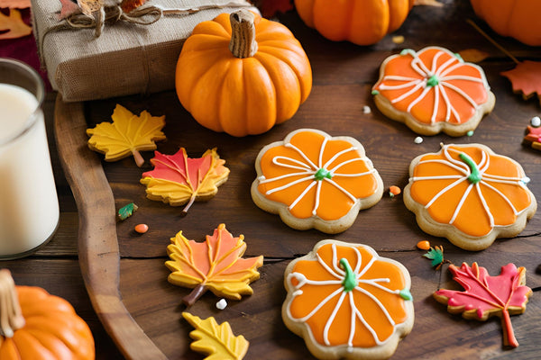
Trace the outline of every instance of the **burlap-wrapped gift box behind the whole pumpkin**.
<path fill-rule="evenodd" d="M 120 1 L 120 0 L 119 0 Z M 175 67 L 184 40 L 197 23 L 232 13 L 245 0 L 151 0 L 164 9 L 216 8 L 194 14 L 164 14 L 149 25 L 105 23 L 94 29 L 50 30 L 59 25 L 60 0 L 32 0 L 34 36 L 50 84 L 67 102 L 148 94 L 175 86 Z M 227 5 L 227 6 L 225 6 Z M 225 7 L 221 7 L 225 6 Z M 257 12 L 254 7 L 248 7 Z"/>

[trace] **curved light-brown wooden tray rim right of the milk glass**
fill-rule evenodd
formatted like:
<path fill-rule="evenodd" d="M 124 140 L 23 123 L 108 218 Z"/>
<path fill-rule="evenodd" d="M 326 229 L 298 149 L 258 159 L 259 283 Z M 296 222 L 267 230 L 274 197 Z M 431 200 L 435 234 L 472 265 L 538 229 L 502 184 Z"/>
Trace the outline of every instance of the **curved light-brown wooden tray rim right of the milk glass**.
<path fill-rule="evenodd" d="M 165 358 L 133 321 L 121 300 L 115 202 L 99 160 L 87 150 L 86 127 L 82 104 L 64 103 L 59 95 L 55 135 L 60 161 L 78 203 L 78 256 L 88 295 L 124 356 Z"/>

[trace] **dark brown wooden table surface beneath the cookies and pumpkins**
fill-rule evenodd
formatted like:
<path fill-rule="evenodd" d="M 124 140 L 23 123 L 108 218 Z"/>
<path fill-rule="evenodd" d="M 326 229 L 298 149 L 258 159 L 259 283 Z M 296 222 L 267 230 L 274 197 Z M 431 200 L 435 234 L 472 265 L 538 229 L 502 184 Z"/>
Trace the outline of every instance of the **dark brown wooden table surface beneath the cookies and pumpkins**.
<path fill-rule="evenodd" d="M 164 131 L 169 140 L 159 144 L 160 152 L 172 154 L 182 146 L 188 149 L 190 157 L 198 157 L 206 148 L 218 147 L 220 156 L 225 158 L 231 169 L 229 181 L 220 187 L 214 199 L 196 202 L 188 216 L 181 218 L 178 208 L 151 202 L 144 196 L 139 179 L 142 171 L 150 169 L 148 160 L 151 153 L 143 154 L 147 160 L 147 167 L 143 169 L 135 166 L 131 158 L 111 164 L 103 162 L 115 207 L 132 201 L 140 206 L 132 218 L 119 223 L 116 228 L 120 254 L 119 290 L 124 306 L 165 356 L 171 359 L 201 358 L 188 348 L 188 332 L 191 329 L 180 315 L 185 310 L 180 299 L 189 290 L 173 286 L 166 280 L 169 270 L 163 263 L 167 260 L 165 249 L 169 239 L 183 230 L 188 238 L 202 240 L 220 222 L 225 222 L 227 229 L 235 236 L 241 233 L 245 235 L 248 243 L 246 256 L 265 256 L 261 279 L 252 283 L 254 293 L 251 297 L 244 297 L 240 302 L 229 302 L 224 311 L 215 309 L 215 302 L 219 299 L 212 293 L 206 293 L 189 311 L 202 318 L 215 316 L 219 322 L 228 320 L 235 334 L 243 334 L 250 340 L 247 358 L 310 357 L 302 339 L 290 333 L 280 319 L 280 306 L 285 298 L 283 271 L 292 258 L 306 254 L 316 241 L 323 238 L 370 245 L 381 256 L 399 260 L 408 267 L 412 276 L 416 323 L 411 334 L 399 344 L 393 358 L 538 358 L 538 344 L 541 342 L 541 331 L 538 329 L 541 299 L 537 292 L 541 289 L 541 275 L 536 274 L 536 267 L 541 264 L 539 214 L 529 221 L 517 238 L 497 240 L 490 248 L 472 253 L 454 247 L 444 238 L 428 236 L 421 231 L 401 196 L 393 199 L 384 196 L 376 206 L 362 211 L 351 229 L 335 236 L 316 230 L 289 229 L 278 216 L 257 208 L 250 197 L 249 187 L 255 176 L 253 161 L 261 147 L 283 139 L 292 130 L 306 127 L 325 130 L 334 136 L 346 134 L 359 139 L 386 187 L 391 184 L 405 186 L 411 159 L 425 152 L 436 152 L 440 142 L 480 142 L 497 153 L 517 159 L 531 177 L 529 188 L 539 201 L 541 153 L 521 145 L 529 120 L 540 112 L 539 102 L 536 99 L 523 101 L 520 95 L 512 93 L 509 81 L 500 76 L 501 71 L 514 64 L 465 23 L 467 18 L 474 19 L 470 4 L 466 1 L 444 3 L 445 7 L 442 8 L 416 6 L 406 23 L 394 34 L 403 35 L 404 43 L 396 44 L 388 36 L 371 47 L 325 40 L 316 31 L 307 29 L 294 12 L 281 16 L 282 23 L 296 34 L 307 51 L 313 68 L 314 86 L 307 102 L 301 105 L 293 119 L 261 136 L 234 139 L 206 130 L 182 109 L 173 92 L 148 98 L 135 95 L 84 104 L 88 127 L 107 121 L 115 103 L 121 103 L 136 113 L 148 110 L 155 115 L 165 114 L 167 127 Z M 490 31 L 481 21 L 477 20 L 477 23 Z M 520 60 L 541 60 L 541 49 L 490 33 Z M 403 124 L 386 119 L 371 99 L 371 85 L 377 79 L 384 58 L 400 49 L 422 49 L 428 45 L 446 47 L 455 52 L 481 49 L 490 54 L 490 58 L 480 65 L 485 69 L 497 103 L 471 138 L 454 139 L 436 135 L 425 137 L 424 142 L 417 145 L 414 143 L 417 134 Z M 80 154 L 61 154 L 59 157 L 57 153 L 52 138 L 53 128 L 59 130 L 58 123 L 53 125 L 55 97 L 56 94 L 48 94 L 45 112 L 60 195 L 60 228 L 50 243 L 31 257 L 2 261 L 0 267 L 9 268 L 17 284 L 41 286 L 71 302 L 94 332 L 97 358 L 122 358 L 96 317 L 79 269 L 77 242 L 81 224 L 78 223 L 76 203 L 59 158 L 65 161 L 67 157 L 78 157 Z M 371 107 L 371 113 L 363 112 L 365 105 Z M 67 106 L 69 110 L 73 105 Z M 65 145 L 63 135 L 60 134 L 60 146 Z M 84 142 L 78 151 L 88 151 L 83 157 L 94 157 L 101 164 L 103 157 L 87 150 Z M 75 191 L 84 193 L 80 188 Z M 88 196 L 94 195 L 88 193 Z M 79 211 L 79 215 L 83 214 L 83 220 L 87 213 L 87 209 Z M 136 236 L 133 232 L 133 225 L 139 222 L 146 222 L 151 227 L 142 236 Z M 513 350 L 502 347 L 500 320 L 491 319 L 485 323 L 463 320 L 460 316 L 447 313 L 445 306 L 433 300 L 431 294 L 439 287 L 457 287 L 446 266 L 442 271 L 435 271 L 429 261 L 421 257 L 423 252 L 415 247 L 420 239 L 429 239 L 433 245 L 444 246 L 445 258 L 455 265 L 477 261 L 487 267 L 491 275 L 498 275 L 500 266 L 509 262 L 526 267 L 527 285 L 534 289 L 534 293 L 527 304 L 526 313 L 511 318 L 520 347 Z M 86 261 L 81 259 L 85 274 Z M 89 286 L 88 292 L 96 295 L 92 286 Z M 98 312 L 105 328 L 115 328 L 110 316 Z M 112 336 L 124 355 L 130 353 L 124 339 L 117 338 L 115 331 Z M 137 348 L 138 345 L 134 344 L 133 347 Z"/>

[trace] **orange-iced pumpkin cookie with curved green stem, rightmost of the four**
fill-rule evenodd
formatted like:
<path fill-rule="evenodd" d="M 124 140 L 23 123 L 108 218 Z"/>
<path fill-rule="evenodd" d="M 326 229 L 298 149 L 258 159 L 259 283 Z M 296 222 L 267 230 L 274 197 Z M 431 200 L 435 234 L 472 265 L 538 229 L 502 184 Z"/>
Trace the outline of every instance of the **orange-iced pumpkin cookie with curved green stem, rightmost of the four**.
<path fill-rule="evenodd" d="M 404 203 L 421 229 L 465 250 L 516 236 L 536 212 L 522 166 L 481 144 L 442 145 L 409 166 Z"/>

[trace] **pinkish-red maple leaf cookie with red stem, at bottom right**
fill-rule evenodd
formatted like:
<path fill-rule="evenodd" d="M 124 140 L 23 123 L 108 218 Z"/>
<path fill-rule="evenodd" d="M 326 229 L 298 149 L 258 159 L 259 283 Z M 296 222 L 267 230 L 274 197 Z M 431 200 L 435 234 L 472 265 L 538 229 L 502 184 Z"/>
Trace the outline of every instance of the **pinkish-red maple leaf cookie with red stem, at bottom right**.
<path fill-rule="evenodd" d="M 472 267 L 463 264 L 460 268 L 449 266 L 454 280 L 464 291 L 441 289 L 434 293 L 438 302 L 447 304 L 450 312 L 462 312 L 465 319 L 487 320 L 499 316 L 507 336 L 504 344 L 518 347 L 518 341 L 511 328 L 510 314 L 522 313 L 532 290 L 525 286 L 524 267 L 514 264 L 501 266 L 498 276 L 490 276 L 487 269 L 473 263 Z"/>

